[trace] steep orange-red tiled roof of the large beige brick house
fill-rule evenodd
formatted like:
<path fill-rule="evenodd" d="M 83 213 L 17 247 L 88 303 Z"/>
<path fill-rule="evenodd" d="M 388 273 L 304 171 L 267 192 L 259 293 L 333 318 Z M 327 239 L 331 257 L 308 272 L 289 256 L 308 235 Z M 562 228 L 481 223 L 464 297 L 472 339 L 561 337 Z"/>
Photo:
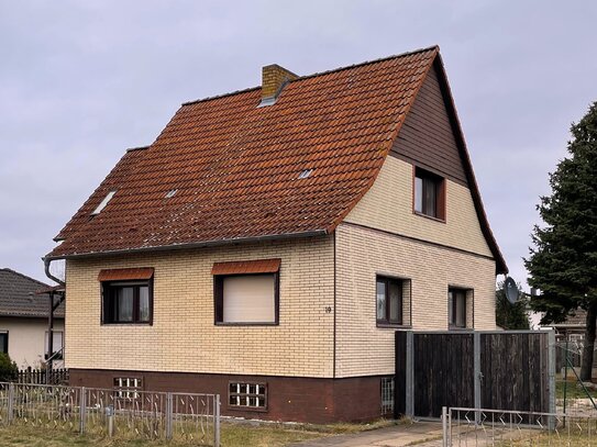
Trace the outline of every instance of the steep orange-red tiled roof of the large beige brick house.
<path fill-rule="evenodd" d="M 48 258 L 333 232 L 375 181 L 434 63 L 438 47 L 299 77 L 269 107 L 258 107 L 261 88 L 183 104 L 151 146 L 126 152 Z"/>

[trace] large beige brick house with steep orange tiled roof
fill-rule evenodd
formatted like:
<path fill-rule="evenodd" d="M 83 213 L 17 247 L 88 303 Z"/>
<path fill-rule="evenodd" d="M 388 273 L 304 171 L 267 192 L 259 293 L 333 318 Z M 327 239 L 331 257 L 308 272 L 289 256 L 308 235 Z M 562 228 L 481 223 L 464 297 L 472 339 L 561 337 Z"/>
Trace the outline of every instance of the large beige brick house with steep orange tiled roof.
<path fill-rule="evenodd" d="M 265 420 L 378 417 L 395 331 L 494 329 L 507 271 L 438 47 L 184 103 L 56 241 L 71 384 Z"/>

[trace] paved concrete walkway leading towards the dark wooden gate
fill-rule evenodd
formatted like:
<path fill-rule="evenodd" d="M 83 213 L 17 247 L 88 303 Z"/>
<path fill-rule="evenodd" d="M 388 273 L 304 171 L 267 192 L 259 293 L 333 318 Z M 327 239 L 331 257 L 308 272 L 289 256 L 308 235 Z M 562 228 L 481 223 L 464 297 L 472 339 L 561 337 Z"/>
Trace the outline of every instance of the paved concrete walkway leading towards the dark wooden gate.
<path fill-rule="evenodd" d="M 289 447 L 441 447 L 442 424 L 439 422 L 414 422 L 351 435 L 329 436 Z"/>

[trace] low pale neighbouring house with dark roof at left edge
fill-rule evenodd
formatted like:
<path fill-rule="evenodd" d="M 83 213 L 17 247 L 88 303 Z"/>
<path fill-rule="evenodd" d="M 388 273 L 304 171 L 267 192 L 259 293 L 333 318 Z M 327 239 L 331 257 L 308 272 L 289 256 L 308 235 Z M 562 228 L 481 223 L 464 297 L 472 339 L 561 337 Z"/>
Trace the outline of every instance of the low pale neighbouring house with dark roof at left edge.
<path fill-rule="evenodd" d="M 38 292 L 48 288 L 9 268 L 0 269 L 0 353 L 8 353 L 21 369 L 37 368 L 47 359 L 49 295 Z M 54 312 L 52 338 L 53 351 L 62 351 L 64 303 Z"/>

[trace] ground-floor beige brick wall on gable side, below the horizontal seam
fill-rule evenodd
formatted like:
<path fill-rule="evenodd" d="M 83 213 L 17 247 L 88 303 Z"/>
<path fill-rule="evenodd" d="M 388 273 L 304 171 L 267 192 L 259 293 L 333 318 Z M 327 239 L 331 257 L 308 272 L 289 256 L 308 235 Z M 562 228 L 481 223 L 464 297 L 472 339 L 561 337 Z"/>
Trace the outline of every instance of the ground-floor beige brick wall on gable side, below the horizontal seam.
<path fill-rule="evenodd" d="M 336 377 L 394 373 L 395 329 L 376 325 L 376 275 L 410 280 L 413 329 L 447 329 L 449 286 L 473 289 L 467 297 L 469 327 L 494 329 L 495 268 L 486 257 L 341 224 L 336 230 Z"/>

